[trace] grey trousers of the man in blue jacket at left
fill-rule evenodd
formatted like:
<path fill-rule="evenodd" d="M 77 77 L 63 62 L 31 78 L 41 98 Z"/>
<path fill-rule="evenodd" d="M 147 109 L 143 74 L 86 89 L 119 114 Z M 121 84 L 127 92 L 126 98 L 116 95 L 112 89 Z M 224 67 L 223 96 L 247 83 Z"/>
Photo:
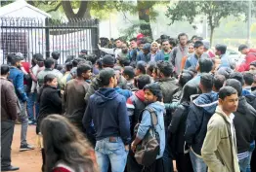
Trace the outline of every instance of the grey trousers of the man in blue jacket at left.
<path fill-rule="evenodd" d="M 19 120 L 21 121 L 21 146 L 26 145 L 26 132 L 28 126 L 28 118 L 26 114 L 26 103 L 20 100 L 21 104 L 21 114 L 19 115 Z"/>

